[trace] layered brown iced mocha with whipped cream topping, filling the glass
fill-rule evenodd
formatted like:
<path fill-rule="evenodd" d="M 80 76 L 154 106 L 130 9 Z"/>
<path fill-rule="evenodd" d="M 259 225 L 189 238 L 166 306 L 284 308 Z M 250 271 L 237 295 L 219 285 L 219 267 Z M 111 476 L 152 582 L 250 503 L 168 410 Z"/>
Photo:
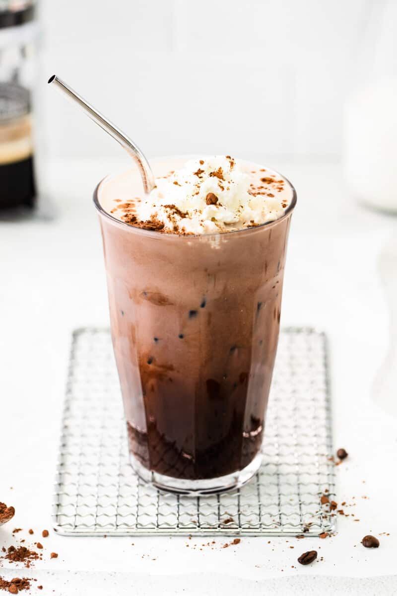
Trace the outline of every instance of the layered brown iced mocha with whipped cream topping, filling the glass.
<path fill-rule="evenodd" d="M 95 195 L 132 464 L 221 491 L 260 464 L 295 191 L 229 156 L 152 167 L 149 195 L 135 171 Z"/>

